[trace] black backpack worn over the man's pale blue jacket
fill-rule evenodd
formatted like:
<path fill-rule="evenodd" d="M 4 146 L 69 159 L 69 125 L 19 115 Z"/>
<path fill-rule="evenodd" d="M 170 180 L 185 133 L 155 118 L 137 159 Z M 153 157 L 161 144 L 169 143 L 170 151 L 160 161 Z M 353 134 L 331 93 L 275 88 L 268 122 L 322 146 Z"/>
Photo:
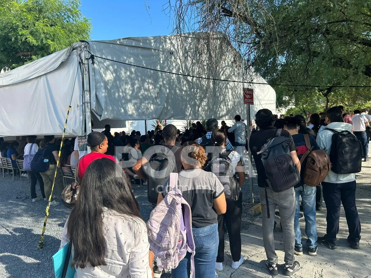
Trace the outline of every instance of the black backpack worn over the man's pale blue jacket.
<path fill-rule="evenodd" d="M 354 174 L 361 172 L 362 145 L 361 141 L 348 130 L 334 132 L 331 139 L 330 161 L 331 171 L 336 174 Z"/>

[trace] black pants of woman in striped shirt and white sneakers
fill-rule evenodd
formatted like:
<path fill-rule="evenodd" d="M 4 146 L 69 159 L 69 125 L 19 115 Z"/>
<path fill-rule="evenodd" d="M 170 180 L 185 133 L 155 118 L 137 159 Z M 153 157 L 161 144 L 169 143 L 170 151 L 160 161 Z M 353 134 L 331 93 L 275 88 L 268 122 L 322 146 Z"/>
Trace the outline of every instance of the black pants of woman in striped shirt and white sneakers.
<path fill-rule="evenodd" d="M 227 211 L 218 215 L 219 248 L 217 262 L 224 261 L 224 222 L 229 234 L 229 245 L 232 259 L 238 262 L 241 258 L 241 218 L 242 218 L 242 192 L 236 202 L 227 199 Z"/>

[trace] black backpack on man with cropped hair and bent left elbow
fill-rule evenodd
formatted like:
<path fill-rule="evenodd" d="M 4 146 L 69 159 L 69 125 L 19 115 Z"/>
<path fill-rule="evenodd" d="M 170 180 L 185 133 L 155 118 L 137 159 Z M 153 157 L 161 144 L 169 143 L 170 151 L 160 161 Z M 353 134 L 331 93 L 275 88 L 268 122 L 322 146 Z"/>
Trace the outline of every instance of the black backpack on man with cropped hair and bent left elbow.
<path fill-rule="evenodd" d="M 175 150 L 173 151 L 173 149 Z M 170 150 L 174 153 L 178 149 L 174 146 Z M 158 193 L 162 192 L 162 183 L 170 176 L 170 173 L 177 172 L 175 157 L 158 154 L 150 159 L 145 172 L 147 174 L 148 202 L 156 204 Z"/>

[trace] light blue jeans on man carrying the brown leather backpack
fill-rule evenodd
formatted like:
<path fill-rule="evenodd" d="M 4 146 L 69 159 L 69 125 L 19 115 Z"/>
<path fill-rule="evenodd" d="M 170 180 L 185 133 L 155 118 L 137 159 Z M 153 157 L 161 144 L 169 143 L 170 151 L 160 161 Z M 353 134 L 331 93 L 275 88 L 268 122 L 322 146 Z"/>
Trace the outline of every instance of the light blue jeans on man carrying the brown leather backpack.
<path fill-rule="evenodd" d="M 302 206 L 305 217 L 305 234 L 308 236 L 306 246 L 317 247 L 317 224 L 316 224 L 316 187 L 302 185 L 295 188 L 296 210 L 294 219 L 295 245 L 302 246 L 301 230 L 299 224 L 299 196 L 302 197 Z"/>

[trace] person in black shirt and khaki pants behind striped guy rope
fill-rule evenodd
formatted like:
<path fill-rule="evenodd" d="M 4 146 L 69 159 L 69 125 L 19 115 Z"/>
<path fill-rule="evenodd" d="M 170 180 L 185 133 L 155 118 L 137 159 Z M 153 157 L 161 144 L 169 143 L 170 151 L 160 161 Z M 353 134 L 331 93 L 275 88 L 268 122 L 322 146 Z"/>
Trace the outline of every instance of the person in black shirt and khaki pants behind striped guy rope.
<path fill-rule="evenodd" d="M 54 135 L 46 135 L 44 136 L 44 141 L 40 143 L 40 147 L 47 148 L 48 150 L 48 157 L 49 157 L 49 169 L 45 172 L 40 173 L 44 181 L 44 191 L 46 199 L 49 200 L 49 196 L 52 193 L 52 185 L 54 180 L 55 171 L 57 171 L 57 175 L 55 177 L 54 186 L 58 190 L 59 196 L 61 196 L 63 189 L 65 188 L 63 185 L 63 177 L 62 173 L 59 171 L 60 163 L 58 169 L 57 161 L 59 160 L 58 152 L 59 147 L 55 145 Z M 50 206 L 59 205 L 59 202 L 53 200 L 53 197 L 50 199 Z"/>

